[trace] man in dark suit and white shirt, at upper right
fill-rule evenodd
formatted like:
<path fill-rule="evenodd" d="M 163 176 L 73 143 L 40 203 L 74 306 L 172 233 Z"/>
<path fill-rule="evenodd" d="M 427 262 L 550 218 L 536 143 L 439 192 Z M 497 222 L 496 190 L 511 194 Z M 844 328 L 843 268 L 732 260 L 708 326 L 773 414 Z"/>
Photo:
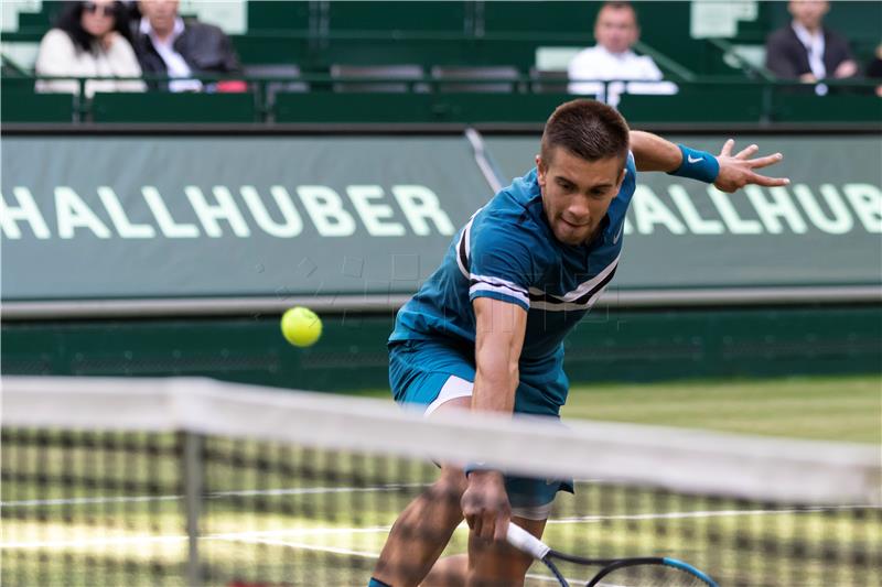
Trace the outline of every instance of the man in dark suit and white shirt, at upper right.
<path fill-rule="evenodd" d="M 821 0 L 792 0 L 787 11 L 793 22 L 768 36 L 765 66 L 778 77 L 815 84 L 819 79 L 843 79 L 858 73 L 848 42 L 824 26 L 830 3 Z M 815 91 L 824 96 L 827 86 Z"/>

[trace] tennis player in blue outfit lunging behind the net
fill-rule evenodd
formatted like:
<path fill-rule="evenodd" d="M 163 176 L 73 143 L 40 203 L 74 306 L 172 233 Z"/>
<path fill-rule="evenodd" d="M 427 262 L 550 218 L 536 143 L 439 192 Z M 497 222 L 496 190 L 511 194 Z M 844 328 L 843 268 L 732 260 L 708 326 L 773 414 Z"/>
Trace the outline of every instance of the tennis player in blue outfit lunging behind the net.
<path fill-rule="evenodd" d="M 389 337 L 395 400 L 427 416 L 453 409 L 558 416 L 569 382 L 563 338 L 613 279 L 637 171 L 662 171 L 734 192 L 786 178 L 755 170 L 781 153 L 720 154 L 631 131 L 598 101 L 558 107 L 536 169 L 503 188 L 453 238 L 441 267 L 398 312 Z M 521 585 L 530 558 L 504 542 L 509 520 L 541 536 L 569 479 L 504 476 L 442 464 L 439 480 L 392 526 L 372 587 Z M 469 553 L 438 559 L 456 525 Z"/>

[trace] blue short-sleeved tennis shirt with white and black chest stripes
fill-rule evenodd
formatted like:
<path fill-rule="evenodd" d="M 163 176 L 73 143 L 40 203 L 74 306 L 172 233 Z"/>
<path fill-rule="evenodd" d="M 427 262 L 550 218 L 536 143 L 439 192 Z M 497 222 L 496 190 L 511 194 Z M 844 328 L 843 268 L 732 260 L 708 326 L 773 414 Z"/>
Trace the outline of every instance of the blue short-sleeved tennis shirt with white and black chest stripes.
<path fill-rule="evenodd" d="M 578 247 L 555 238 L 536 169 L 514 180 L 453 237 L 441 267 L 398 311 L 389 343 L 439 339 L 474 347 L 472 301 L 493 297 L 528 312 L 521 362 L 544 362 L 555 355 L 562 359 L 563 338 L 619 265 L 625 211 L 636 185 L 631 153 L 601 233 Z"/>

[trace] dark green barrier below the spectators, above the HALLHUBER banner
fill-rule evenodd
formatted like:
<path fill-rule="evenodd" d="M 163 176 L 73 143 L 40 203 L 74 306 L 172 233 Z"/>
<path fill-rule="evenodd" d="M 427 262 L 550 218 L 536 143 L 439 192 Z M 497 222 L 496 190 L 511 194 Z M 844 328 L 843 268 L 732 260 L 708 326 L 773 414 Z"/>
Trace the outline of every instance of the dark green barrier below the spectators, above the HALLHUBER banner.
<path fill-rule="evenodd" d="M 319 79 L 311 84 L 313 91 L 279 93 L 271 99 L 258 87 L 247 94 L 97 94 L 77 109 L 79 100 L 69 95 L 34 94 L 32 79 L 4 78 L 2 116 L 3 122 L 61 123 L 79 117 L 82 122 L 95 123 L 540 124 L 555 107 L 573 98 L 531 93 L 333 93 L 327 91 L 326 77 Z M 869 91 L 821 97 L 786 87 L 682 84 L 675 96 L 624 95 L 619 109 L 628 121 L 642 124 L 829 122 L 882 130 L 882 100 Z"/>

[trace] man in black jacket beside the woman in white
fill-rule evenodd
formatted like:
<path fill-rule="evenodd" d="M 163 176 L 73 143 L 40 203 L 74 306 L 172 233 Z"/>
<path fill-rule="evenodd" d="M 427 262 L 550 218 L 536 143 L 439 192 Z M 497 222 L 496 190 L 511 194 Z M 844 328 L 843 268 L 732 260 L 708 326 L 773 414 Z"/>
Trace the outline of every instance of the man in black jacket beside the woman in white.
<path fill-rule="evenodd" d="M 178 0 L 141 0 L 143 18 L 138 23 L 135 51 L 146 74 L 166 74 L 166 84 L 152 83 L 171 91 L 200 91 L 202 83 L 191 79 L 198 74 L 240 74 L 241 65 L 229 37 L 212 24 L 178 15 Z M 241 90 L 244 84 L 211 85 L 209 90 Z"/>

